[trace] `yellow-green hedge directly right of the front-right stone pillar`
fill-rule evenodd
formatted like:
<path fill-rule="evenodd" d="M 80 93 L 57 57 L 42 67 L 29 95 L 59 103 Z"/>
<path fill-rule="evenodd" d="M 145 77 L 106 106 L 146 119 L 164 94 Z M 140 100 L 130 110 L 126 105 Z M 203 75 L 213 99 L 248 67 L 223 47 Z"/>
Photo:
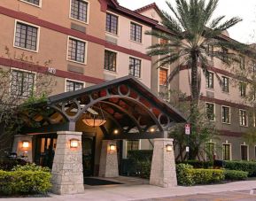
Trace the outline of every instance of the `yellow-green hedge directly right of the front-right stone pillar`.
<path fill-rule="evenodd" d="M 219 169 L 193 169 L 188 164 L 176 166 L 177 181 L 180 185 L 209 184 L 224 180 L 224 171 Z"/>

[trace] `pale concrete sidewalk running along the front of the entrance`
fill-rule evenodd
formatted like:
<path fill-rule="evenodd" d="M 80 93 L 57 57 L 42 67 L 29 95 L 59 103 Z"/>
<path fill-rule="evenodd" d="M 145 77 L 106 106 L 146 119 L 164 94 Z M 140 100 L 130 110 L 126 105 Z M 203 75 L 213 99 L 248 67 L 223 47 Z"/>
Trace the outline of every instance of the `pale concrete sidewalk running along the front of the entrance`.
<path fill-rule="evenodd" d="M 223 191 L 234 191 L 244 189 L 256 189 L 256 181 L 229 182 L 225 184 L 174 187 L 169 189 L 159 188 L 151 185 L 116 185 L 108 187 L 97 187 L 85 189 L 84 194 L 31 198 L 2 198 L 1 201 L 125 201 L 141 200 L 155 197 L 176 197 L 195 194 L 216 193 Z"/>

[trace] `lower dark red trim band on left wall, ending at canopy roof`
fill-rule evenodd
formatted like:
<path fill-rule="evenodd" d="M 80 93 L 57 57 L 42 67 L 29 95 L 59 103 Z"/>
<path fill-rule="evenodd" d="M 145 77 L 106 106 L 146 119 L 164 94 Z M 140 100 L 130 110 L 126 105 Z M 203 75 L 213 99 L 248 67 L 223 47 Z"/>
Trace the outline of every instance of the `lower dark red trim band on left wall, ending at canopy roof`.
<path fill-rule="evenodd" d="M 15 68 L 19 68 L 19 69 L 23 69 L 23 70 L 27 70 L 27 71 L 31 71 L 31 72 L 48 73 L 48 68 L 45 66 L 29 64 L 26 62 L 13 60 L 10 58 L 1 58 L 0 57 L 0 65 L 15 67 Z M 62 70 L 58 70 L 58 69 L 56 70 L 56 73 L 54 73 L 52 75 L 57 76 L 57 77 L 69 78 L 69 79 L 76 80 L 76 81 L 85 81 L 85 82 L 94 83 L 94 84 L 98 84 L 98 83 L 101 83 L 104 81 L 103 79 L 98 79 L 98 78 L 89 77 L 89 76 L 86 76 L 83 74 L 72 73 L 72 72 L 62 71 Z"/>

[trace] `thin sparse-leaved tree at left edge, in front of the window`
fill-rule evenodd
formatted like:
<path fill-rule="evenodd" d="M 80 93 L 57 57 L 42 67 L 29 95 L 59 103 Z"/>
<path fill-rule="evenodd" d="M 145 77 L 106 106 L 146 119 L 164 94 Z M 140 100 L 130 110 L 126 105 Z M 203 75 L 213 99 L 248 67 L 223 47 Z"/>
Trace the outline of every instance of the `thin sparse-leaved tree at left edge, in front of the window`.
<path fill-rule="evenodd" d="M 32 56 L 24 53 L 17 58 L 17 54 L 10 52 L 5 47 L 6 57 L 14 62 L 14 59 L 29 65 L 37 65 L 32 62 Z M 16 58 L 14 58 L 16 57 Z M 50 61 L 44 63 L 50 65 Z M 54 77 L 50 73 L 18 73 L 10 67 L 0 68 L 0 151 L 9 150 L 12 146 L 13 135 L 19 133 L 21 125 L 26 121 L 24 115 L 35 114 L 37 108 L 30 105 L 46 100 L 56 85 Z M 20 115 L 22 111 L 24 115 Z"/>

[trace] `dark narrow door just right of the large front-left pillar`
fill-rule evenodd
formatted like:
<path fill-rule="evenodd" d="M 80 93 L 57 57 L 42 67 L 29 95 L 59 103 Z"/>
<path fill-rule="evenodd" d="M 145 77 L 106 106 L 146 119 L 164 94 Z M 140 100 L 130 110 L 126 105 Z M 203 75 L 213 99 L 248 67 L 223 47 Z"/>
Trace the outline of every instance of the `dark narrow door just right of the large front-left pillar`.
<path fill-rule="evenodd" d="M 82 166 L 83 176 L 92 176 L 94 169 L 94 150 L 95 150 L 95 137 L 82 136 Z"/>

